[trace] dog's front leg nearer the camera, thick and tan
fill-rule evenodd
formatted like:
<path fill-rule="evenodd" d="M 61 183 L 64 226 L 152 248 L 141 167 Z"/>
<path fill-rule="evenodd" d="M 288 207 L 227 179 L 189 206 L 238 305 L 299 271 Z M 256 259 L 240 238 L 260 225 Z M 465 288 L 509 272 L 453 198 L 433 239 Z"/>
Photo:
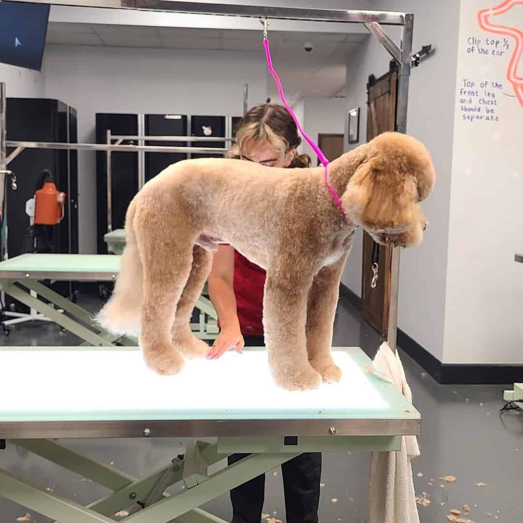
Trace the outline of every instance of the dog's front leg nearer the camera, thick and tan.
<path fill-rule="evenodd" d="M 299 263 L 267 270 L 264 294 L 265 344 L 276 384 L 287 390 L 316 389 L 322 382 L 307 357 L 305 320 L 312 274 Z"/>

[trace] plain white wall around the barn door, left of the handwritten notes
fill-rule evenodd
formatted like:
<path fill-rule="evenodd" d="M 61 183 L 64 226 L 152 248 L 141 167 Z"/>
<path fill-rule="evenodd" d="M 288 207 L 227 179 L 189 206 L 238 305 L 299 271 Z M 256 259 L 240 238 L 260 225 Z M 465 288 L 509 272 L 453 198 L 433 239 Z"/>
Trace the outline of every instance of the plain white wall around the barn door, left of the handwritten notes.
<path fill-rule="evenodd" d="M 422 207 L 430 225 L 421 246 L 402 251 L 399 327 L 440 361 L 443 359 L 447 280 L 450 174 L 453 141 L 453 99 L 456 85 L 459 2 L 378 2 L 373 8 L 414 13 L 413 51 L 432 44 L 436 53 L 413 69 L 408 99 L 407 132 L 428 147 L 436 168 L 436 186 Z M 391 34 L 398 40 L 397 31 Z M 390 57 L 369 38 L 347 64 L 347 109 L 361 110 L 360 139 L 366 136 L 368 75 L 388 71 Z M 343 281 L 361 293 L 361 233 Z"/>

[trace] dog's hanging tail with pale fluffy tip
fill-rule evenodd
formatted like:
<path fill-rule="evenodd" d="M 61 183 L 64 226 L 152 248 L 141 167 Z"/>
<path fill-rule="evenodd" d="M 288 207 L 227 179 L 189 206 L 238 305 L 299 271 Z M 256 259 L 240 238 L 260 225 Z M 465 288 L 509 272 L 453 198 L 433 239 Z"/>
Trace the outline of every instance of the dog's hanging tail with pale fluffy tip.
<path fill-rule="evenodd" d="M 110 333 L 138 337 L 142 315 L 143 270 L 134 230 L 136 206 L 136 199 L 133 199 L 127 209 L 126 245 L 121 256 L 115 289 L 95 320 Z"/>

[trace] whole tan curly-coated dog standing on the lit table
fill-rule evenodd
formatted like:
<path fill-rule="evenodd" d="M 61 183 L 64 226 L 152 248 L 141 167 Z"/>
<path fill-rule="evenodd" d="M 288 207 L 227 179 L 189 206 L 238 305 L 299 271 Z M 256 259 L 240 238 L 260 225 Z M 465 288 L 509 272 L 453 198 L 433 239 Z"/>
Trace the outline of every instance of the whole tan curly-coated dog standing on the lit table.
<path fill-rule="evenodd" d="M 422 241 L 418 203 L 434 185 L 425 147 L 383 133 L 322 167 L 278 169 L 207 158 L 167 167 L 134 197 L 112 297 L 98 314 L 110 332 L 138 335 L 145 362 L 177 373 L 209 346 L 190 331 L 192 308 L 212 254 L 200 235 L 220 238 L 267 271 L 263 303 L 272 377 L 288 390 L 340 379 L 331 357 L 339 280 L 356 227 L 379 243 Z"/>

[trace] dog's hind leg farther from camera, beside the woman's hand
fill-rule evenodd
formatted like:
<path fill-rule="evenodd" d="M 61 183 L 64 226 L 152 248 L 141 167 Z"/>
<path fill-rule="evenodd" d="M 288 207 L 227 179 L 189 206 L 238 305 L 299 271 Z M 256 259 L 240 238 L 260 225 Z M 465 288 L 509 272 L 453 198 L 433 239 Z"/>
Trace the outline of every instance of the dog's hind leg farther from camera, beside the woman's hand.
<path fill-rule="evenodd" d="M 203 358 L 209 353 L 209 345 L 192 334 L 189 322 L 211 265 L 212 254 L 195 245 L 192 249 L 191 272 L 178 301 L 172 331 L 173 343 L 187 358 Z"/>

